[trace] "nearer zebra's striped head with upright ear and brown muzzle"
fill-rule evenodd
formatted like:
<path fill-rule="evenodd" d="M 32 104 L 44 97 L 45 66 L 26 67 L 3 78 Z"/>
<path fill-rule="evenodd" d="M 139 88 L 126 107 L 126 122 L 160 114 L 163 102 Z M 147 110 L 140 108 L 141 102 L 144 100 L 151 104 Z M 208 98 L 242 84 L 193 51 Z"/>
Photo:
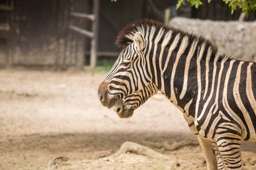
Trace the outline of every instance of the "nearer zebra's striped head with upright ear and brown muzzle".
<path fill-rule="evenodd" d="M 138 31 L 126 37 L 130 41 L 126 42 L 125 48 L 98 88 L 98 97 L 102 105 L 108 108 L 112 108 L 119 99 L 142 90 L 151 81 L 149 75 L 145 76 L 142 70 L 146 65 L 146 40 Z"/>

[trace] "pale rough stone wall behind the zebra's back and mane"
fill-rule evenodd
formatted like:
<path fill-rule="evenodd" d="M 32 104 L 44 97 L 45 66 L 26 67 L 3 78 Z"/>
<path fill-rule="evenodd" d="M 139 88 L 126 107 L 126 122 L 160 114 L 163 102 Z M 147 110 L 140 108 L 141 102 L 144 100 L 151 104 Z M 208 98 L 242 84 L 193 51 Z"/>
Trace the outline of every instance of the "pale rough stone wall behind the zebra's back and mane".
<path fill-rule="evenodd" d="M 169 25 L 207 37 L 221 53 L 256 62 L 256 22 L 173 18 Z"/>

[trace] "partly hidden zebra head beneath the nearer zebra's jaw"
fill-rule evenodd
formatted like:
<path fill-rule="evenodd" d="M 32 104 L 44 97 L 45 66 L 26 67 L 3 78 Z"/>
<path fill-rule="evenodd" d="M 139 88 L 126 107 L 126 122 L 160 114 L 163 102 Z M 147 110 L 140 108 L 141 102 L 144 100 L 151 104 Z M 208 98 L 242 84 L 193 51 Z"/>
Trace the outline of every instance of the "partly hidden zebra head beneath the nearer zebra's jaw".
<path fill-rule="evenodd" d="M 127 95 L 117 101 L 114 106 L 114 111 L 120 118 L 128 118 L 133 116 L 135 109 L 144 104 L 150 97 L 154 96 L 158 92 L 158 88 L 155 84 L 150 83 L 146 88 L 138 92 L 134 92 L 131 95 Z"/>

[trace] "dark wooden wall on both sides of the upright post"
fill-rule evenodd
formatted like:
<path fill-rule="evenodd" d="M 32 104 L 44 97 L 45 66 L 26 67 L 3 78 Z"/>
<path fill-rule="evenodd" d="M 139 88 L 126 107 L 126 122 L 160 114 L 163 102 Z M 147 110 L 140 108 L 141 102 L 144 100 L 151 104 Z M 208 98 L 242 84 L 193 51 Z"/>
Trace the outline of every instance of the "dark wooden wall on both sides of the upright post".
<path fill-rule="evenodd" d="M 118 32 L 127 23 L 143 18 L 143 1 L 101 1 L 99 52 L 119 52 Z M 69 24 L 91 30 L 89 20 L 74 18 L 71 11 L 92 14 L 92 0 L 14 0 L 14 10 L 0 10 L 0 19 L 10 25 L 1 39 L 0 65 L 83 66 L 90 39 L 68 29 Z M 1 28 L 1 22 L 0 22 Z M 8 41 L 8 43 L 7 43 Z M 10 45 L 7 45 L 10 44 Z"/>

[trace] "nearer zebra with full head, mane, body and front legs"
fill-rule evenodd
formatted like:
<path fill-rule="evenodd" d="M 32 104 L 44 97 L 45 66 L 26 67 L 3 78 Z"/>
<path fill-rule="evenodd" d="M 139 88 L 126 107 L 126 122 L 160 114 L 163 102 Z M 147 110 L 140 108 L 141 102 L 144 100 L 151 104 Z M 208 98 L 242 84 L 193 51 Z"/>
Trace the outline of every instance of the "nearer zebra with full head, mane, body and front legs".
<path fill-rule="evenodd" d="M 183 112 L 208 169 L 242 169 L 241 141 L 256 142 L 255 62 L 148 19 L 124 27 L 116 44 L 123 50 L 98 88 L 102 105 L 112 108 L 154 84 Z"/>

